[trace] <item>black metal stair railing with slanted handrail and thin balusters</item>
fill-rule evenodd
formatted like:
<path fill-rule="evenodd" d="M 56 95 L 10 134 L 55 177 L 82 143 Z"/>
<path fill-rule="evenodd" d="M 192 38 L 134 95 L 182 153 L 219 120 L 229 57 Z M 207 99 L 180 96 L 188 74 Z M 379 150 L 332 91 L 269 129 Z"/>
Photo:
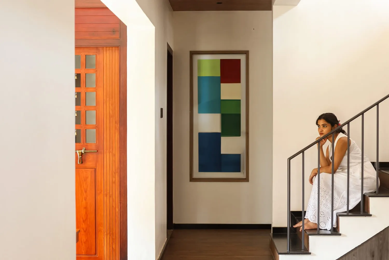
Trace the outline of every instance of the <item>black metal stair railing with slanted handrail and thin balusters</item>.
<path fill-rule="evenodd" d="M 362 144 L 361 144 L 361 153 L 362 153 L 362 156 L 361 156 L 361 160 L 362 160 L 362 168 L 361 168 L 361 213 L 363 214 L 363 210 L 364 210 L 364 207 L 363 207 L 363 164 L 364 164 L 364 113 L 366 113 L 367 111 L 369 111 L 371 108 L 374 108 L 374 107 L 377 107 L 377 152 L 376 152 L 376 156 L 377 156 L 377 159 L 376 159 L 376 177 L 377 177 L 377 184 L 376 184 L 376 187 L 377 187 L 377 190 L 376 190 L 376 193 L 378 194 L 378 168 L 379 168 L 379 160 L 378 160 L 378 126 L 379 126 L 379 104 L 384 101 L 385 99 L 389 98 L 389 95 L 383 97 L 382 99 L 378 100 L 376 103 L 372 104 L 371 106 L 369 106 L 368 108 L 366 108 L 365 110 L 363 110 L 362 112 L 358 113 L 357 115 L 355 115 L 354 117 L 352 117 L 351 119 L 347 120 L 346 122 L 344 122 L 343 124 L 341 124 L 339 127 L 343 127 L 343 126 L 346 126 L 347 125 L 347 214 L 349 214 L 349 195 L 350 195 L 350 122 L 353 121 L 354 119 L 358 118 L 359 116 L 362 116 Z M 331 169 L 331 232 L 333 232 L 333 228 L 334 228 L 334 225 L 333 225 L 333 213 L 334 213 L 334 163 L 333 163 L 333 156 L 334 156 L 334 147 L 335 145 L 334 142 L 335 142 L 335 132 L 337 131 L 338 129 L 335 128 L 333 129 L 331 132 L 329 132 L 328 134 L 325 134 L 324 136 L 322 136 L 321 138 L 317 139 L 316 141 L 314 141 L 313 143 L 311 143 L 310 145 L 307 145 L 305 148 L 301 149 L 300 151 L 296 152 L 295 154 L 293 154 L 291 157 L 288 158 L 288 175 L 287 175 L 287 184 L 288 184 L 288 187 L 287 187 L 287 211 L 288 211 L 288 216 L 287 216 L 287 251 L 290 252 L 290 229 L 291 229 L 291 160 L 298 156 L 298 155 L 302 155 L 302 163 L 303 163 L 303 170 L 302 170 L 302 210 L 301 210 L 301 214 L 302 214 L 302 217 L 303 217 L 303 222 L 302 222 L 302 235 L 301 235 L 301 251 L 304 251 L 304 182 L 305 182 L 305 177 L 304 177 L 304 152 L 306 150 L 308 150 L 309 148 L 311 148 L 312 146 L 314 146 L 315 144 L 319 143 L 321 140 L 323 140 L 324 138 L 327 138 L 329 135 L 332 135 L 332 145 L 331 145 L 331 148 L 332 148 L 332 153 L 331 153 L 331 164 L 332 164 L 332 169 Z M 321 149 L 321 146 L 320 145 L 317 145 L 317 175 L 316 177 L 318 178 L 317 179 L 317 233 L 320 232 L 320 228 L 319 228 L 319 223 L 320 223 L 320 149 Z"/>

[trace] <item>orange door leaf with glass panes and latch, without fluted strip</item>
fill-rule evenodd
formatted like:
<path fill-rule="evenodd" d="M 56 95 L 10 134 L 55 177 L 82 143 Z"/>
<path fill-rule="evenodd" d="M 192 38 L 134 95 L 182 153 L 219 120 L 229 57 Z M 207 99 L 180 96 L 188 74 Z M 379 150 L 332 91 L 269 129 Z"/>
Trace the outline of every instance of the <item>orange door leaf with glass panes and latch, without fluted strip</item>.
<path fill-rule="evenodd" d="M 80 229 L 76 254 L 77 260 L 104 260 L 103 48 L 75 48 L 75 55 L 75 77 L 80 77 L 75 86 L 75 150 L 86 150 L 81 164 L 75 153 L 76 229 Z"/>

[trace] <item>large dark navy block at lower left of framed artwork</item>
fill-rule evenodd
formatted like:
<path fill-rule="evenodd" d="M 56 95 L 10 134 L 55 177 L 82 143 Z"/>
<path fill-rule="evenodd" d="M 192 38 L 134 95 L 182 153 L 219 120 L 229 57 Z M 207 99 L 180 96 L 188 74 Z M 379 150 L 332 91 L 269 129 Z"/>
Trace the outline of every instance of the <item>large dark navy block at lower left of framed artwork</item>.
<path fill-rule="evenodd" d="M 221 172 L 221 133 L 198 133 L 198 171 Z"/>

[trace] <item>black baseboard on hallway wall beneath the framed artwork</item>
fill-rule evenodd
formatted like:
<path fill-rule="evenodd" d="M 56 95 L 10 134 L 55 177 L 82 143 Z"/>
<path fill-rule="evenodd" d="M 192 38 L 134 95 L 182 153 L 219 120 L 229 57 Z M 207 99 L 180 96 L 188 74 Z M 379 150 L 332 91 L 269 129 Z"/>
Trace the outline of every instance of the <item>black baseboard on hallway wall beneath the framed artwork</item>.
<path fill-rule="evenodd" d="M 173 229 L 271 229 L 272 224 L 173 224 Z"/>

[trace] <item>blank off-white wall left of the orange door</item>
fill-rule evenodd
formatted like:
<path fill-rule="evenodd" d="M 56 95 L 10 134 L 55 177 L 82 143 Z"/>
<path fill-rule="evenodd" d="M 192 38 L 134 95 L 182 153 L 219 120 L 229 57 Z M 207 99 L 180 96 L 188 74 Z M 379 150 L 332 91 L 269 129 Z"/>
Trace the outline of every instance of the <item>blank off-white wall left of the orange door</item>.
<path fill-rule="evenodd" d="M 3 1 L 0 31 L 0 259 L 75 259 L 74 1 Z"/>

